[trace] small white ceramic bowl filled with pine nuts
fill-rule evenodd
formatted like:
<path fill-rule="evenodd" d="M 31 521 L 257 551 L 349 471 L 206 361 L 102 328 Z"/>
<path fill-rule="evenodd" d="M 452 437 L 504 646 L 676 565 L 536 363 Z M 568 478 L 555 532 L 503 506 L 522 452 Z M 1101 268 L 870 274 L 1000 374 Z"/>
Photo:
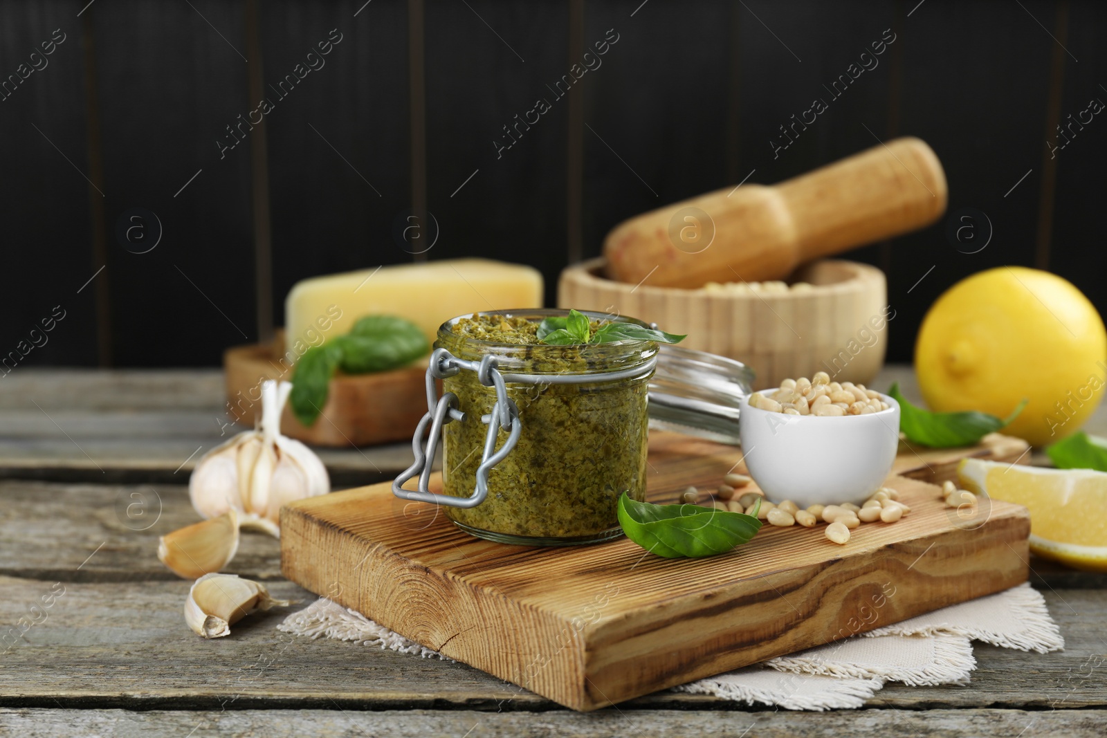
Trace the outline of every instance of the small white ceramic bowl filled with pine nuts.
<path fill-rule="evenodd" d="M 770 413 L 743 398 L 738 434 L 749 476 L 774 502 L 860 505 L 888 478 L 899 448 L 899 403 L 880 398 L 887 410 L 845 417 Z"/>

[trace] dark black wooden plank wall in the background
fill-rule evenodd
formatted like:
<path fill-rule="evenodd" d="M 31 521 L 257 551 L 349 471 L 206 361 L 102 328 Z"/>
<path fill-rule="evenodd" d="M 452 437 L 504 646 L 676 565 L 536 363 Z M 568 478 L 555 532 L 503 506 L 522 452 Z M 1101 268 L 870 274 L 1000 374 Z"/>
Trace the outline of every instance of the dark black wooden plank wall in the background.
<path fill-rule="evenodd" d="M 332 29 L 281 98 L 270 85 Z M 554 100 L 609 29 L 601 65 Z M 879 65 L 774 156 L 778 126 L 886 29 Z M 904 134 L 942 159 L 950 212 L 993 232 L 971 254 L 944 224 L 852 254 L 888 273 L 890 358 L 993 266 L 1056 271 L 1103 311 L 1107 119 L 1054 158 L 1046 142 L 1107 101 L 1105 33 L 1093 0 L 7 1 L 0 75 L 41 69 L 0 101 L 0 353 L 33 337 L 21 365 L 214 365 L 281 324 L 297 280 L 413 258 L 530 263 L 552 302 L 560 269 L 628 216 Z M 220 154 L 260 94 L 273 110 Z M 538 97 L 551 110 L 497 154 Z M 134 208 L 161 222 L 146 253 L 117 237 Z M 438 238 L 412 256 L 393 224 L 426 209 Z"/>

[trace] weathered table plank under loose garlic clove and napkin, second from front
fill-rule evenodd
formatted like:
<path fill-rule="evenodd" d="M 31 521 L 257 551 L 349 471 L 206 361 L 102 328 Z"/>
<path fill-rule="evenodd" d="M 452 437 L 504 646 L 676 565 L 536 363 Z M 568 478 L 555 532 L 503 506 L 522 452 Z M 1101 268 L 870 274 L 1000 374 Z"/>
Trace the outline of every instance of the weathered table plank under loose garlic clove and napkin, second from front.
<path fill-rule="evenodd" d="M 97 554 L 100 555 L 100 554 Z M 376 646 L 290 636 L 287 612 L 258 613 L 225 638 L 204 641 L 185 625 L 188 582 L 62 582 L 64 594 L 0 659 L 0 706 L 124 709 L 479 709 L 560 710 L 555 703 L 464 664 Z M 0 576 L 0 634 L 40 604 L 49 580 Z M 276 596 L 312 600 L 294 584 Z M 56 589 L 54 591 L 58 591 Z M 870 706 L 904 709 L 1003 706 L 1107 709 L 1103 590 L 1046 590 L 1065 651 L 1027 654 L 976 644 L 964 686 L 889 684 Z M 302 606 L 302 605 L 300 605 Z M 41 616 L 40 616 L 41 620 Z M 610 711 L 644 708 L 763 710 L 704 695 L 659 692 Z M 187 731 L 186 731 L 187 732 Z"/>

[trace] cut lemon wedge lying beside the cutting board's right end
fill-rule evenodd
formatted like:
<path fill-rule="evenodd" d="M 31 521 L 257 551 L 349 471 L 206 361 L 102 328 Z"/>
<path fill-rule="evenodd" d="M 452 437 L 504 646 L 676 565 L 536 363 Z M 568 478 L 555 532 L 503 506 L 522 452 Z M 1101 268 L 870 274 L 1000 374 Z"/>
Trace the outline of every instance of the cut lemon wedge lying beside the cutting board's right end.
<path fill-rule="evenodd" d="M 965 489 L 1031 511 L 1031 550 L 1076 569 L 1107 572 L 1107 472 L 963 459 Z"/>

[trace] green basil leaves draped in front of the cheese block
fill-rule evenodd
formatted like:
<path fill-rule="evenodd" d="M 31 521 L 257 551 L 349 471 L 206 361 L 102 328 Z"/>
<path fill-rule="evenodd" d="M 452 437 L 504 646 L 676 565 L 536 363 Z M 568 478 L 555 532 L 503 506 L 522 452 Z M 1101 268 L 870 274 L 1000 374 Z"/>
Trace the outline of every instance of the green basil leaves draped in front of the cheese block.
<path fill-rule="evenodd" d="M 346 335 L 312 346 L 300 356 L 289 395 L 292 413 L 303 425 L 314 423 L 327 404 L 335 370 L 346 374 L 386 372 L 411 364 L 430 350 L 423 331 L 410 320 L 365 315 Z"/>

